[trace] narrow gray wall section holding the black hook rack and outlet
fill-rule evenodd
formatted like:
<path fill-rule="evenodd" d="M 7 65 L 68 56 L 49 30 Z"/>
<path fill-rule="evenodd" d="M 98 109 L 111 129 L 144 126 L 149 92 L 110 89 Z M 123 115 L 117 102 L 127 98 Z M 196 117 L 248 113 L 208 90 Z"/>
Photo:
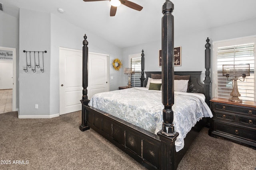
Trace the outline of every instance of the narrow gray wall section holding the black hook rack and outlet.
<path fill-rule="evenodd" d="M 25 51 L 47 51 L 44 73 L 26 66 Z M 19 115 L 49 115 L 50 110 L 50 14 L 20 8 Z M 29 54 L 28 54 L 29 55 Z M 33 58 L 33 54 L 32 54 Z M 28 56 L 29 59 L 29 56 Z M 38 109 L 35 109 L 38 104 Z"/>

